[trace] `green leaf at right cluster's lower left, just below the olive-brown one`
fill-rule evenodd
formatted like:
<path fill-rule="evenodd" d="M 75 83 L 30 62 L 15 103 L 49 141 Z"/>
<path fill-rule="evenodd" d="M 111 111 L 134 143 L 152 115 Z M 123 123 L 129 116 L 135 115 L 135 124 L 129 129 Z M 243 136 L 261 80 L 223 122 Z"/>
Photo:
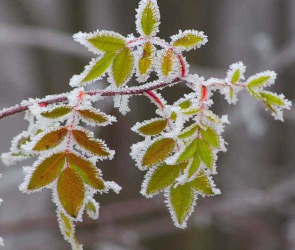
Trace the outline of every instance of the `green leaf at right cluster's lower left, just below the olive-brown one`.
<path fill-rule="evenodd" d="M 163 190 L 174 182 L 181 170 L 187 166 L 187 162 L 176 165 L 168 165 L 163 163 L 159 165 L 152 173 L 146 187 L 147 194 L 153 194 Z"/>

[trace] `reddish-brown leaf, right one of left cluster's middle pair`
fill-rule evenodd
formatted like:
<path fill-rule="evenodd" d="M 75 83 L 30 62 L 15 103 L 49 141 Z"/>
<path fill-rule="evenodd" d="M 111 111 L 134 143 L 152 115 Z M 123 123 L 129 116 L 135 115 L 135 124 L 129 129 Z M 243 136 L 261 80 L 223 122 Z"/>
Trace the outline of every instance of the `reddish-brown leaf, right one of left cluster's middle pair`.
<path fill-rule="evenodd" d="M 73 136 L 76 141 L 90 152 L 99 156 L 109 156 L 110 153 L 105 148 L 104 144 L 100 141 L 90 138 L 88 134 L 82 130 L 73 129 Z"/>

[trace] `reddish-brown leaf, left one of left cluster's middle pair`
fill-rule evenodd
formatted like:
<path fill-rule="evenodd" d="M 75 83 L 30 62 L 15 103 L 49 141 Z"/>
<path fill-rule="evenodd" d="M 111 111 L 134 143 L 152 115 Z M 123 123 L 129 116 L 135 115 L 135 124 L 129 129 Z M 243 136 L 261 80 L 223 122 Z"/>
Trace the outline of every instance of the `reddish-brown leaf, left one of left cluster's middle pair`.
<path fill-rule="evenodd" d="M 33 150 L 43 151 L 56 147 L 68 133 L 68 128 L 63 126 L 45 134 L 33 147 Z"/>

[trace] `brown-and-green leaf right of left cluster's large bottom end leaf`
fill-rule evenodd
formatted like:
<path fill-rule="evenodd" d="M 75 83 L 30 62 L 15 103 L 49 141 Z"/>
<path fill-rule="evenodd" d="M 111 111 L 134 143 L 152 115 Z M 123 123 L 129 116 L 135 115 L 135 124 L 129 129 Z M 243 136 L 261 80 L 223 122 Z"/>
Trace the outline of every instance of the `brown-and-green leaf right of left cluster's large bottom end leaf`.
<path fill-rule="evenodd" d="M 105 184 L 99 177 L 97 168 L 91 161 L 84 159 L 74 153 L 68 154 L 69 166 L 77 171 L 85 183 L 94 187 L 95 189 L 104 189 Z"/>

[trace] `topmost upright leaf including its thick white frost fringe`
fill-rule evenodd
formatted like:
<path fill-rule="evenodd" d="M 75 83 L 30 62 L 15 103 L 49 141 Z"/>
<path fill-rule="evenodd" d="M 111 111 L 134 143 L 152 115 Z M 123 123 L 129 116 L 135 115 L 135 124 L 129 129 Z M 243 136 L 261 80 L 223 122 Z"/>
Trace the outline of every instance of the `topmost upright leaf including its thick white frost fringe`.
<path fill-rule="evenodd" d="M 160 12 L 155 0 L 142 0 L 136 15 L 137 30 L 141 35 L 154 36 L 159 28 Z"/>

